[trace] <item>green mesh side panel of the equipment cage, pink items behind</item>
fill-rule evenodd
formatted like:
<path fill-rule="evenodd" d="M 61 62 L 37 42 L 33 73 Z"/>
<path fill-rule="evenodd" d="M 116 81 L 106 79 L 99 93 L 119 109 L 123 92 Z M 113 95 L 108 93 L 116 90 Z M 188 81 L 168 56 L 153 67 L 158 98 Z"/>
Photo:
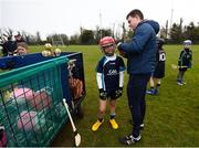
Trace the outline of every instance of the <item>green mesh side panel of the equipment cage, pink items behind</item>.
<path fill-rule="evenodd" d="M 7 146 L 48 146 L 63 125 L 66 112 L 62 104 L 62 64 L 65 61 L 0 75 L 7 77 L 0 80 L 0 127 Z M 3 142 L 1 135 L 0 146 Z"/>

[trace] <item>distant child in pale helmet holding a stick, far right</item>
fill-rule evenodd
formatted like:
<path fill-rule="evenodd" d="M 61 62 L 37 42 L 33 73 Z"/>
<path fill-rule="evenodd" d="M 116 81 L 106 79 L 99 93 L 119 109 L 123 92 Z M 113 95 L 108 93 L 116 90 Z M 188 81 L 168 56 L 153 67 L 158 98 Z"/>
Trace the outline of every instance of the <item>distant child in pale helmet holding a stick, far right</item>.
<path fill-rule="evenodd" d="M 191 51 L 192 42 L 190 40 L 184 41 L 184 50 L 180 52 L 179 60 L 178 60 L 178 76 L 177 76 L 177 84 L 184 85 L 184 75 L 187 68 L 191 68 L 192 65 L 192 51 Z"/>

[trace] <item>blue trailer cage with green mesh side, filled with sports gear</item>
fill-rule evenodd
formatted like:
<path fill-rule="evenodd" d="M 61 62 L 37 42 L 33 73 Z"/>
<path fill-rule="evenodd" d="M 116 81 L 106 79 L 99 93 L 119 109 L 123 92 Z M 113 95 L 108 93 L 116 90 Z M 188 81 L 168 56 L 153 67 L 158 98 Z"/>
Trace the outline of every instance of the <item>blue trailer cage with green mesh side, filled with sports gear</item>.
<path fill-rule="evenodd" d="M 62 98 L 78 113 L 86 95 L 83 54 L 8 56 L 0 68 L 11 70 L 0 73 L 0 146 L 49 146 L 67 120 Z"/>

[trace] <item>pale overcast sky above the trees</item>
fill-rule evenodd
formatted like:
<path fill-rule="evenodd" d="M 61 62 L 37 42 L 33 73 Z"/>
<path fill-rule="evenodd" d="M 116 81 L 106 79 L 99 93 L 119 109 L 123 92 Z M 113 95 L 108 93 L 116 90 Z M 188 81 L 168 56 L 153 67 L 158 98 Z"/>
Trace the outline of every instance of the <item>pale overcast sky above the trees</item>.
<path fill-rule="evenodd" d="M 52 33 L 72 35 L 85 29 L 118 29 L 126 14 L 140 9 L 145 19 L 166 24 L 199 22 L 199 0 L 0 0 L 0 29 L 24 30 L 42 36 Z M 172 17 L 171 17 L 171 10 Z M 101 13 L 101 17 L 100 17 Z M 101 18 L 101 19 L 100 19 Z M 172 19 L 171 19 L 172 18 Z M 102 22 L 102 23 L 101 23 Z"/>

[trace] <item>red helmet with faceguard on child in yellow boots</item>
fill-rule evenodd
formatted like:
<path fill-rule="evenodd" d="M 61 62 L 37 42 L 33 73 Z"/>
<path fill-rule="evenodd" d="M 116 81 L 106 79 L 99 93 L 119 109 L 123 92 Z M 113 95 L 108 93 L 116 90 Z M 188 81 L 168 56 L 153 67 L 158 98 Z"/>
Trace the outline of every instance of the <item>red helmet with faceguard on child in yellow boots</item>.
<path fill-rule="evenodd" d="M 115 52 L 115 40 L 112 36 L 105 36 L 100 41 L 101 50 L 105 55 L 112 56 Z"/>

